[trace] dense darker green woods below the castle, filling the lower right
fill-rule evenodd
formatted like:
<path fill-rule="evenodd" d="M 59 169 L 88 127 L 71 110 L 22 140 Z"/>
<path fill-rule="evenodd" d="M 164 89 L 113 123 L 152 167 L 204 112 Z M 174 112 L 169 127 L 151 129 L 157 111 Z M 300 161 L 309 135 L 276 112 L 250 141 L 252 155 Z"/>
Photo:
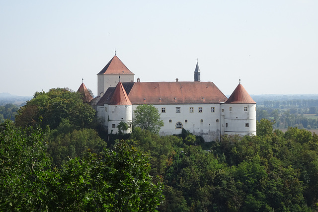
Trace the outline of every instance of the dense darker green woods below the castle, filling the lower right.
<path fill-rule="evenodd" d="M 162 179 L 159 211 L 317 211 L 318 136 L 272 125 L 260 120 L 258 136 L 224 136 L 209 151 L 189 133 L 160 137 L 137 128 L 128 142 Z"/>

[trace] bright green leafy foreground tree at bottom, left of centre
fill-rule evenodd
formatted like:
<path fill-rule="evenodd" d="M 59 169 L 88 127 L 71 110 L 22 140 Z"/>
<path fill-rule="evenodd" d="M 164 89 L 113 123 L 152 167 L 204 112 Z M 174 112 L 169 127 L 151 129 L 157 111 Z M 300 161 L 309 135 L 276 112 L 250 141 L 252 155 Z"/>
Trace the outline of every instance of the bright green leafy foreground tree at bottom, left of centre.
<path fill-rule="evenodd" d="M 161 183 L 149 175 L 148 156 L 124 141 L 101 155 L 66 162 L 46 181 L 48 211 L 156 212 Z"/>

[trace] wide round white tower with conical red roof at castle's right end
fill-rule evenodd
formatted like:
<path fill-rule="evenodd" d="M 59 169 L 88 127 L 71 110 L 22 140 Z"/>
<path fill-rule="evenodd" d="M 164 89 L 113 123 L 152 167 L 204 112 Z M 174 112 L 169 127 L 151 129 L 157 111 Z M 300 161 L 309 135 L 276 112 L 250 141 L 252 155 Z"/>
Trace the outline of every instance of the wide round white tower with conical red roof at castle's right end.
<path fill-rule="evenodd" d="M 240 83 L 223 105 L 224 134 L 256 136 L 256 102 Z"/>

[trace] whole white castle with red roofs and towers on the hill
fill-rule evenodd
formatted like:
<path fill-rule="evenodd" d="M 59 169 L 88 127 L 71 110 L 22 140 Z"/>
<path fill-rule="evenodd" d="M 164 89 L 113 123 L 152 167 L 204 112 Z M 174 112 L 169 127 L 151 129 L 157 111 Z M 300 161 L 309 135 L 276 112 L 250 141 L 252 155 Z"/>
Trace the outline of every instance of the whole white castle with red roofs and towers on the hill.
<path fill-rule="evenodd" d="M 227 98 L 213 82 L 200 81 L 198 63 L 192 82 L 135 82 L 134 75 L 116 55 L 97 74 L 97 117 L 109 134 L 118 133 L 120 122 L 131 122 L 138 105 L 151 104 L 164 123 L 160 135 L 180 134 L 182 128 L 205 141 L 256 135 L 256 102 L 240 82 Z"/>

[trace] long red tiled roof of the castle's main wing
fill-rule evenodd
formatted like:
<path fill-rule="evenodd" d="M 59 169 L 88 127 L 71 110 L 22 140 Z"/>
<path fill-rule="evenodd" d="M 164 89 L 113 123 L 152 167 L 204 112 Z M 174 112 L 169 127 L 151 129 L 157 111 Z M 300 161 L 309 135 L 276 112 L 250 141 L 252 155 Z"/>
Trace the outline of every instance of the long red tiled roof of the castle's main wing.
<path fill-rule="evenodd" d="M 227 100 L 213 82 L 123 82 L 122 84 L 130 102 L 134 105 L 213 104 Z M 107 104 L 113 93 L 107 90 L 105 98 L 103 96 L 98 104 Z"/>

